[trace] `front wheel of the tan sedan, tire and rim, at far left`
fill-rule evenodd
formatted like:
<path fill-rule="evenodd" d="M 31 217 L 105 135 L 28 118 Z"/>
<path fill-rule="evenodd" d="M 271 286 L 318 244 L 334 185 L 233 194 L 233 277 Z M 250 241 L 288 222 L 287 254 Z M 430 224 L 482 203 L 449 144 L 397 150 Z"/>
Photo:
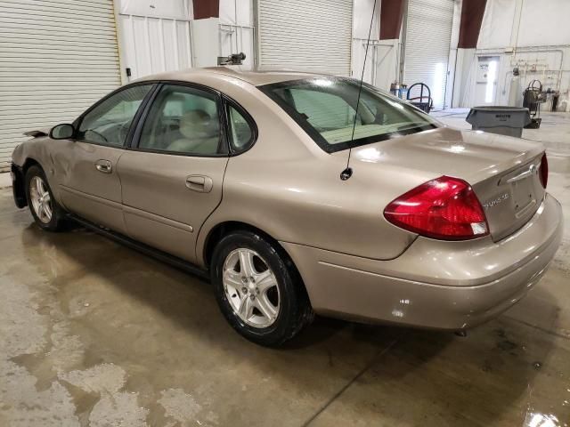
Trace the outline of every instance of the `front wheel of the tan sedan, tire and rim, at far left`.
<path fill-rule="evenodd" d="M 37 225 L 48 231 L 63 230 L 64 213 L 53 198 L 44 170 L 39 165 L 29 167 L 25 184 L 29 211 Z"/>

